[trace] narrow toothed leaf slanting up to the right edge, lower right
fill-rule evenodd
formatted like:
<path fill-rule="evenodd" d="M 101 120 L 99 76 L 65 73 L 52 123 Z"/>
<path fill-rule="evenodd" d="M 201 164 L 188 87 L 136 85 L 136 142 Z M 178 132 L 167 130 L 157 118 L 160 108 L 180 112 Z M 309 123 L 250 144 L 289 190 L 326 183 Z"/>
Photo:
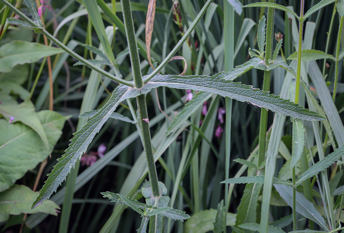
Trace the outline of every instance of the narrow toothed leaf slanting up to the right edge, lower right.
<path fill-rule="evenodd" d="M 296 186 L 300 185 L 304 180 L 318 174 L 320 171 L 325 170 L 331 164 L 335 163 L 340 157 L 344 155 L 344 145 L 336 149 L 331 154 L 327 155 L 324 159 L 315 163 L 307 171 L 305 171 L 301 176 L 298 177 L 296 181 Z"/>

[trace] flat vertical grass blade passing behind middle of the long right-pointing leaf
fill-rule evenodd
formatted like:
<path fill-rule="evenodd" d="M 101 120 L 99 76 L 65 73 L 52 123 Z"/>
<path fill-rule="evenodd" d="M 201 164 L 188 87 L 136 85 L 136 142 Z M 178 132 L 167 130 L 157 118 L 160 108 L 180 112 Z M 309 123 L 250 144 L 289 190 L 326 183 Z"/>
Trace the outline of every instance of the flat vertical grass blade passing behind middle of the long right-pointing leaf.
<path fill-rule="evenodd" d="M 224 37 L 225 37 L 225 71 L 229 71 L 234 66 L 234 9 L 228 1 L 224 1 Z M 225 179 L 229 178 L 230 162 L 230 131 L 232 123 L 232 102 L 226 97 L 226 152 L 225 152 Z M 229 208 L 228 198 L 229 184 L 225 184 L 225 214 Z M 226 231 L 225 231 L 226 232 Z"/>

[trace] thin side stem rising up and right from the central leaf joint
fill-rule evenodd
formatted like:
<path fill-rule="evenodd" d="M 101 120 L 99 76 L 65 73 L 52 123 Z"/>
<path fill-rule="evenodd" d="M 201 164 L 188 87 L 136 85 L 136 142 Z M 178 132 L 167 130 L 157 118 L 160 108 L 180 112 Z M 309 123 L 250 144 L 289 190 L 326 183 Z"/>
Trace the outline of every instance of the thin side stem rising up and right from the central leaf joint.
<path fill-rule="evenodd" d="M 1 0 L 3 1 L 3 0 Z M 183 37 L 180 39 L 178 44 L 172 49 L 172 51 L 169 53 L 169 55 L 166 56 L 166 58 L 162 61 L 162 63 L 150 74 L 146 79 L 144 79 L 144 83 L 148 82 L 151 80 L 155 75 L 157 75 L 160 70 L 170 61 L 170 59 L 174 56 L 174 54 L 182 47 L 186 39 L 190 36 L 191 32 L 195 29 L 197 23 L 201 20 L 203 14 L 205 11 L 208 9 L 210 3 L 212 3 L 213 0 L 207 0 L 204 6 L 202 7 L 200 13 L 196 16 L 195 20 L 192 22 L 191 26 L 189 29 L 185 32 Z"/>

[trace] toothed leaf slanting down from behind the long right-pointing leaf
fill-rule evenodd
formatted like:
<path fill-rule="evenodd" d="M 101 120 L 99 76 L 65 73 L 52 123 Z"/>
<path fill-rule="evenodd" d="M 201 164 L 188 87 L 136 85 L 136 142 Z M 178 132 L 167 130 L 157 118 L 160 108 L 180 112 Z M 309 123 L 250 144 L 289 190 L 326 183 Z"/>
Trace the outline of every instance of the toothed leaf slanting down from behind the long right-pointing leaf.
<path fill-rule="evenodd" d="M 182 111 L 173 119 L 166 134 L 175 132 L 212 95 L 203 91 L 196 93 L 192 100 L 187 102 Z"/>

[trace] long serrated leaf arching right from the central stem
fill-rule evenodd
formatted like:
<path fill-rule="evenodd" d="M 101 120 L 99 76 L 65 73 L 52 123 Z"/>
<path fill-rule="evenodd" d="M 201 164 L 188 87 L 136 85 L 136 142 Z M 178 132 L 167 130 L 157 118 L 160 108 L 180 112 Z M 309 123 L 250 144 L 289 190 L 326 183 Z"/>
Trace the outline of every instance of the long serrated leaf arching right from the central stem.
<path fill-rule="evenodd" d="M 278 114 L 289 115 L 302 120 L 323 120 L 323 116 L 304 109 L 299 104 L 284 100 L 279 96 L 269 94 L 252 86 L 243 85 L 239 82 L 231 82 L 221 78 L 223 72 L 214 76 L 178 76 L 178 75 L 156 75 L 141 88 L 141 93 L 148 93 L 152 88 L 161 86 L 206 91 L 209 93 L 229 97 L 242 102 L 250 102 L 258 107 L 263 107 Z"/>

